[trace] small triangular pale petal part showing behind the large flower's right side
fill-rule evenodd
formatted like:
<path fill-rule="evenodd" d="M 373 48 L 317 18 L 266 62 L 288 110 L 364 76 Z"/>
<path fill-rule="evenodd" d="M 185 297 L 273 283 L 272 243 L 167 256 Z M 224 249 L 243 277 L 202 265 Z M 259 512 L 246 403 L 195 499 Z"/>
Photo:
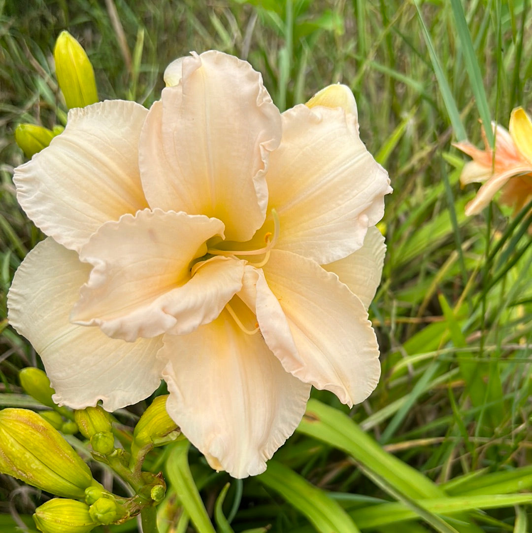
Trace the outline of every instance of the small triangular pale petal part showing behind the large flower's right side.
<path fill-rule="evenodd" d="M 344 259 L 324 265 L 323 268 L 337 274 L 340 281 L 360 298 L 367 310 L 381 282 L 384 255 L 384 237 L 372 226 L 367 229 L 362 248 Z"/>

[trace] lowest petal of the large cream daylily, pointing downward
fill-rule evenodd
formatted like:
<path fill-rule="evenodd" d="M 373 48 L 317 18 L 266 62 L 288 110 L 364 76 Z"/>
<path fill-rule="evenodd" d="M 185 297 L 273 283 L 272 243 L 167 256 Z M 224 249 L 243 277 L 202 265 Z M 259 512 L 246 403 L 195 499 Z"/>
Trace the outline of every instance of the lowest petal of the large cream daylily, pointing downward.
<path fill-rule="evenodd" d="M 165 335 L 160 357 L 169 415 L 214 469 L 235 478 L 264 472 L 305 412 L 310 386 L 225 310 L 190 335 Z"/>

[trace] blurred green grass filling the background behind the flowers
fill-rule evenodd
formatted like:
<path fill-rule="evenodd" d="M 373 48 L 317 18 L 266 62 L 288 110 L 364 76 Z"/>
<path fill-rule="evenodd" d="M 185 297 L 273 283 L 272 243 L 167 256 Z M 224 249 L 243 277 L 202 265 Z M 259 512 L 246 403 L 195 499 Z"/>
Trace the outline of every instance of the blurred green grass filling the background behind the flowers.
<path fill-rule="evenodd" d="M 281 110 L 330 83 L 349 85 L 362 139 L 395 189 L 382 222 L 382 284 L 370 311 L 381 345 L 379 387 L 349 413 L 353 425 L 334 418 L 347 409 L 332 395 L 314 391 L 336 409 L 320 416 L 332 417 L 338 434 L 326 424 L 316 431 L 301 425 L 274 457 L 289 469 L 277 472 L 284 491 L 275 488 L 275 472 L 232 480 L 223 506 L 231 527 L 326 531 L 312 505 L 297 504 L 308 489 L 298 482 L 306 479 L 364 531 L 527 531 L 532 496 L 515 495 L 532 490 L 530 219 L 523 211 L 512 222 L 496 204 L 465 217 L 477 187 L 460 188 L 464 156 L 451 142 L 468 136 L 479 144 L 480 117 L 507 126 L 512 108 L 530 109 L 531 26 L 527 0 L 473 0 L 463 10 L 457 0 L 0 0 L 0 406 L 32 406 L 17 374 L 40 365 L 5 319 L 13 272 L 41 238 L 14 196 L 12 171 L 24 157 L 13 132 L 21 122 L 51 128 L 66 120 L 54 78 L 56 37 L 68 29 L 85 47 L 101 99 L 145 106 L 158 99 L 171 60 L 222 50 L 263 73 Z M 378 444 L 342 444 L 354 428 Z M 362 439 L 351 438 L 353 446 Z M 388 462 L 385 450 L 398 461 Z M 154 454 L 153 469 L 166 458 Z M 191 463 L 214 512 L 228 478 L 194 451 Z M 42 500 L 1 480 L 0 528 L 11 531 L 9 513 L 24 517 Z M 179 499 L 171 496 L 165 512 L 176 518 Z M 173 530 L 185 531 L 186 523 Z M 109 530 L 135 528 L 133 521 Z"/>

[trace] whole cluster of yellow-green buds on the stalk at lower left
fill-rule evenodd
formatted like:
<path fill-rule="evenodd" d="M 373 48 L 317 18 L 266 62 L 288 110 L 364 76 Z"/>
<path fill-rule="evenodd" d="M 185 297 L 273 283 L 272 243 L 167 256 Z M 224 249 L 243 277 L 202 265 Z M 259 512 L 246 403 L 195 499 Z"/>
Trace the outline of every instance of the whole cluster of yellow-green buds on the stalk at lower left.
<path fill-rule="evenodd" d="M 0 473 L 60 496 L 36 509 L 34 520 L 40 531 L 85 533 L 100 525 L 125 522 L 162 501 L 164 480 L 160 474 L 143 472 L 142 463 L 154 446 L 179 437 L 178 427 L 166 413 L 166 396 L 155 398 L 138 421 L 129 437 L 129 453 L 120 443 L 115 446 L 113 418 L 101 407 L 72 414 L 56 406 L 50 381 L 37 368 L 22 370 L 20 381 L 43 408 L 53 410 L 40 414 L 17 408 L 0 411 Z M 128 482 L 135 495 L 124 498 L 105 490 L 58 430 L 81 433 L 93 457 Z"/>

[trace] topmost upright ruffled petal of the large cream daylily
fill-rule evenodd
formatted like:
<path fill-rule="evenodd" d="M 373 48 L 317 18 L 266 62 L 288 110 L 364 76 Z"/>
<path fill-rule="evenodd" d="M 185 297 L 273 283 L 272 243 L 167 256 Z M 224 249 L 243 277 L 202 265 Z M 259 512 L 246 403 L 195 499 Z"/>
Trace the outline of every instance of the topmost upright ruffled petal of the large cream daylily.
<path fill-rule="evenodd" d="M 140 166 L 151 207 L 214 216 L 229 240 L 264 222 L 268 152 L 281 117 L 251 65 L 221 52 L 184 58 L 177 86 L 162 91 L 141 135 Z"/>

